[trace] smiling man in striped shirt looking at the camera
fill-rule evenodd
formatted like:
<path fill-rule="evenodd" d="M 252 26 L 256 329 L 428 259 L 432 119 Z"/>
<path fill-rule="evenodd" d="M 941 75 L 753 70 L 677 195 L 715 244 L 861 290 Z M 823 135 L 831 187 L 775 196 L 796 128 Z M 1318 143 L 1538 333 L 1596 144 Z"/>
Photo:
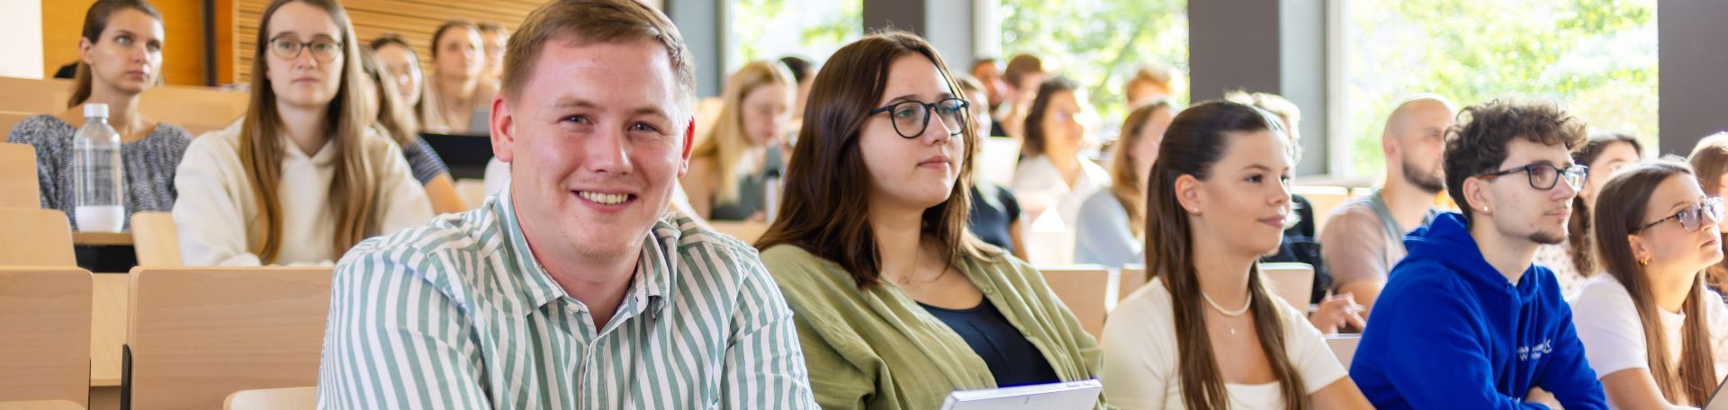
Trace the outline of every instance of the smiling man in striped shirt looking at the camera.
<path fill-rule="evenodd" d="M 342 258 L 327 408 L 814 408 L 757 253 L 665 214 L 695 69 L 634 0 L 555 0 L 510 38 L 484 207 Z"/>

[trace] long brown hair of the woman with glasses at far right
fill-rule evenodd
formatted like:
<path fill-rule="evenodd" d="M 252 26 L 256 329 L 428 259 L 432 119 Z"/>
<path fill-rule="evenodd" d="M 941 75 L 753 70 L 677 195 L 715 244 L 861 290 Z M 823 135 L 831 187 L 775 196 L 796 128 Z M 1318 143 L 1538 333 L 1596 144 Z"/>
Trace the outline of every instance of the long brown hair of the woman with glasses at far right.
<path fill-rule="evenodd" d="M 1597 245 L 1604 267 L 1621 286 L 1626 286 L 1633 307 L 1638 308 L 1643 345 L 1649 346 L 1645 358 L 1650 365 L 1650 377 L 1655 377 L 1655 386 L 1669 401 L 1680 403 L 1685 398 L 1700 405 L 1716 388 L 1716 358 L 1711 353 L 1711 332 L 1704 320 L 1704 303 L 1707 303 L 1704 281 L 1700 281 L 1702 277 L 1692 281 L 1687 301 L 1680 307 L 1687 319 L 1680 327 L 1680 369 L 1674 369 L 1668 357 L 1668 332 L 1662 329 L 1661 307 L 1650 295 L 1650 277 L 1643 265 L 1635 260 L 1628 239 L 1645 224 L 1643 212 L 1650 205 L 1650 195 L 1671 177 L 1692 177 L 1692 169 L 1676 162 L 1652 162 L 1621 171 L 1609 179 L 1597 193 L 1602 195 L 1600 198 L 1614 198 L 1597 202 Z"/>

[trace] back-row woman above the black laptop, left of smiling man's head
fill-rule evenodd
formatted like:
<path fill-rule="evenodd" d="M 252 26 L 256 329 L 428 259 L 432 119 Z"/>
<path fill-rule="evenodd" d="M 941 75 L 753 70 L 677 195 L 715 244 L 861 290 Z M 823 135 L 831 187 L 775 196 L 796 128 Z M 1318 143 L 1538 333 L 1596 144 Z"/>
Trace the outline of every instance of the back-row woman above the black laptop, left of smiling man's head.
<path fill-rule="evenodd" d="M 486 81 L 480 28 L 446 21 L 432 33 L 432 78 L 420 126 L 432 133 L 486 134 L 498 83 Z"/>

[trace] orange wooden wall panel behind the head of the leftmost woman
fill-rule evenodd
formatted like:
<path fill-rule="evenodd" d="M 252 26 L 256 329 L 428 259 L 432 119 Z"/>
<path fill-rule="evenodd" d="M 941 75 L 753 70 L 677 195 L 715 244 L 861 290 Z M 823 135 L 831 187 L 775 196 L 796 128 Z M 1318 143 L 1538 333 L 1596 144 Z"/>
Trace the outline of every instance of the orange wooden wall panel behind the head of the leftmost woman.
<path fill-rule="evenodd" d="M 85 12 L 95 0 L 41 0 L 41 76 L 52 78 L 62 64 L 78 60 L 78 36 L 85 28 Z M 162 14 L 162 81 L 168 84 L 202 86 L 204 67 L 204 0 L 152 0 Z"/>

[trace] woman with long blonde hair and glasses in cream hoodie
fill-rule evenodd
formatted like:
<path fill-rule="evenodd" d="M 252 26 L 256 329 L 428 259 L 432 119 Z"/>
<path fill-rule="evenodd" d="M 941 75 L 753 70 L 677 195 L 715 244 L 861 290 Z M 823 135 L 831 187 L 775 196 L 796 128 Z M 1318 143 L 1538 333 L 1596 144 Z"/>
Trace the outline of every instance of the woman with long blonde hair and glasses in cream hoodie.
<path fill-rule="evenodd" d="M 401 150 L 366 131 L 359 47 L 335 0 L 276 0 L 238 127 L 192 141 L 175 226 L 187 265 L 332 264 L 365 238 L 425 224 Z"/>

